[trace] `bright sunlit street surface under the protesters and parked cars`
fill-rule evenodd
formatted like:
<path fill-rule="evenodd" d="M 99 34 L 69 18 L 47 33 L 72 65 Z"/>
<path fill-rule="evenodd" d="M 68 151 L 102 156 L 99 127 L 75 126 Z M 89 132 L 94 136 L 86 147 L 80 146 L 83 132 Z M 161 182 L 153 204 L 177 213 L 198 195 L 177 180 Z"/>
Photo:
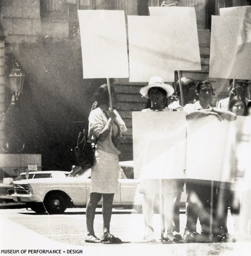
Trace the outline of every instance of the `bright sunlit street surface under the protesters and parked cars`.
<path fill-rule="evenodd" d="M 85 208 L 67 209 L 62 215 L 50 216 L 37 215 L 26 208 L 1 209 L 0 217 L 1 254 L 6 253 L 6 249 L 11 249 L 13 251 L 9 253 L 16 252 L 16 255 L 18 253 L 42 255 L 39 253 L 41 249 L 56 249 L 57 254 L 62 255 L 73 253 L 82 255 L 250 255 L 251 250 L 251 240 L 247 239 L 237 240 L 236 243 L 170 244 L 161 243 L 160 240 L 155 243 L 145 242 L 143 216 L 130 209 L 113 209 L 110 230 L 124 242 L 119 245 L 85 243 Z M 180 215 L 182 232 L 185 222 L 186 215 L 182 211 Z M 102 223 L 101 208 L 98 208 L 95 230 L 99 238 L 102 237 Z M 160 225 L 157 214 L 154 215 L 154 227 L 156 238 L 159 239 Z M 229 216 L 229 227 L 230 232 L 233 232 L 231 216 Z M 198 231 L 200 231 L 199 226 Z M 30 250 L 29 253 L 28 250 Z M 48 251 L 43 253 L 43 255 L 47 254 Z"/>

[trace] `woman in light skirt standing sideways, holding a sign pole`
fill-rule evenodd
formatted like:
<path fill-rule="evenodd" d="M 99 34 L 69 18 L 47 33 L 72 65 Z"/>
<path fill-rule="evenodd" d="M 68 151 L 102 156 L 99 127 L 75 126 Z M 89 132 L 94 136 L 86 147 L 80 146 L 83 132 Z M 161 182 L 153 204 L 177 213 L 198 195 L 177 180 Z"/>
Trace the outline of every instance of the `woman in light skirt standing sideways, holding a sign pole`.
<path fill-rule="evenodd" d="M 115 89 L 111 86 L 111 100 L 116 100 Z M 94 109 L 89 115 L 89 138 L 97 141 L 95 164 L 92 167 L 90 198 L 86 206 L 87 238 L 89 243 L 121 243 L 119 238 L 110 234 L 110 220 L 114 194 L 118 189 L 120 173 L 117 148 L 119 138 L 126 132 L 126 126 L 116 110 L 109 109 L 107 84 L 100 86 L 95 94 Z M 98 202 L 103 198 L 103 238 L 95 236 L 94 218 Z"/>

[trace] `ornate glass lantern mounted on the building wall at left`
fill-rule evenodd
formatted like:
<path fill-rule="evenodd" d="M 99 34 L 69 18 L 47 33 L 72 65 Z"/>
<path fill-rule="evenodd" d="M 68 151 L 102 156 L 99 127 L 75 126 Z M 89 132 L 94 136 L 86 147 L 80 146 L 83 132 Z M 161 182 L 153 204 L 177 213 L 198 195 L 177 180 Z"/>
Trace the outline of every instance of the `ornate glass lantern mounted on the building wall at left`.
<path fill-rule="evenodd" d="M 18 100 L 19 94 L 22 91 L 22 86 L 24 85 L 25 74 L 20 69 L 18 62 L 15 62 L 15 67 L 11 70 L 9 75 L 9 87 L 14 94 L 12 95 L 11 104 L 15 104 Z"/>

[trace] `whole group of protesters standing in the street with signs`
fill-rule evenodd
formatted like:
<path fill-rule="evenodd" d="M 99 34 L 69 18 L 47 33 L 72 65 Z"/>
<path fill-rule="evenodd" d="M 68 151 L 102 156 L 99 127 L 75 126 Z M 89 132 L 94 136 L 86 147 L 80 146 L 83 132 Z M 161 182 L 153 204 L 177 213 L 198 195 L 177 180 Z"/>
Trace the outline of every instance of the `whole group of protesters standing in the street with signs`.
<path fill-rule="evenodd" d="M 246 81 L 235 81 L 235 87 L 230 92 L 229 99 L 224 102 L 219 101 L 218 108 L 212 108 L 211 102 L 214 95 L 212 84 L 209 81 L 194 81 L 182 77 L 182 91 L 184 92 L 184 107 L 179 104 L 180 96 L 179 83 L 176 88 L 176 98 L 174 88 L 164 83 L 161 77 L 151 77 L 147 86 L 141 88 L 142 96 L 148 98 L 147 111 L 185 111 L 187 118 L 201 118 L 214 115 L 217 118 L 235 120 L 236 115 L 247 115 L 249 113 L 250 101 L 245 98 L 244 90 L 247 87 Z M 87 237 L 89 243 L 121 243 L 121 239 L 110 233 L 110 220 L 112 211 L 113 196 L 118 188 L 118 178 L 120 172 L 119 154 L 117 148 L 119 138 L 127 129 L 124 121 L 116 110 L 109 109 L 109 93 L 107 84 L 99 87 L 95 94 L 95 104 L 89 115 L 89 137 L 96 141 L 95 157 L 96 161 L 92 167 L 92 180 L 90 198 L 86 207 Z M 110 95 L 113 105 L 116 102 L 116 91 L 110 86 Z M 170 103 L 170 98 L 175 100 Z M 227 103 L 226 103 L 227 101 Z M 227 104 L 226 109 L 223 106 Z M 163 198 L 163 220 L 164 229 L 162 239 L 178 243 L 185 242 L 209 242 L 224 241 L 229 238 L 226 228 L 226 216 L 217 219 L 216 207 L 214 207 L 214 225 L 210 230 L 210 209 L 211 186 L 207 182 L 200 180 L 187 180 L 187 223 L 184 235 L 179 228 L 179 201 L 185 180 L 162 180 Z M 219 189 L 214 188 L 214 198 L 217 202 Z M 222 189 L 226 192 L 226 189 Z M 155 195 L 159 194 L 158 180 L 141 180 L 140 192 L 144 194 L 143 216 L 145 223 L 145 236 L 147 241 L 155 241 L 153 228 L 153 212 Z M 225 195 L 226 193 L 224 193 Z M 99 239 L 94 231 L 95 210 L 98 202 L 103 198 L 103 238 Z M 194 199 L 196 198 L 196 200 Z M 224 199 L 224 207 L 229 206 L 230 197 Z M 227 202 L 226 202 L 227 201 Z M 198 209 L 198 203 L 202 206 Z M 215 204 L 216 205 L 216 204 Z M 197 220 L 200 221 L 201 233 L 196 231 Z"/>

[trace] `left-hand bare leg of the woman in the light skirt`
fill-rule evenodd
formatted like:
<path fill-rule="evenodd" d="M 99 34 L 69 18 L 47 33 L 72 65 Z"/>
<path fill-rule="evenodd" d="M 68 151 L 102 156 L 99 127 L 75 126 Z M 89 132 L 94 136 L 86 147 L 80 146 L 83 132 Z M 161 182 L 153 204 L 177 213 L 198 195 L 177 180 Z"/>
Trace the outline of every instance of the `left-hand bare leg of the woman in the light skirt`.
<path fill-rule="evenodd" d="M 102 194 L 100 193 L 90 193 L 90 198 L 86 206 L 86 225 L 87 225 L 87 236 L 94 236 L 94 218 L 95 210 L 98 202 L 101 200 Z"/>

